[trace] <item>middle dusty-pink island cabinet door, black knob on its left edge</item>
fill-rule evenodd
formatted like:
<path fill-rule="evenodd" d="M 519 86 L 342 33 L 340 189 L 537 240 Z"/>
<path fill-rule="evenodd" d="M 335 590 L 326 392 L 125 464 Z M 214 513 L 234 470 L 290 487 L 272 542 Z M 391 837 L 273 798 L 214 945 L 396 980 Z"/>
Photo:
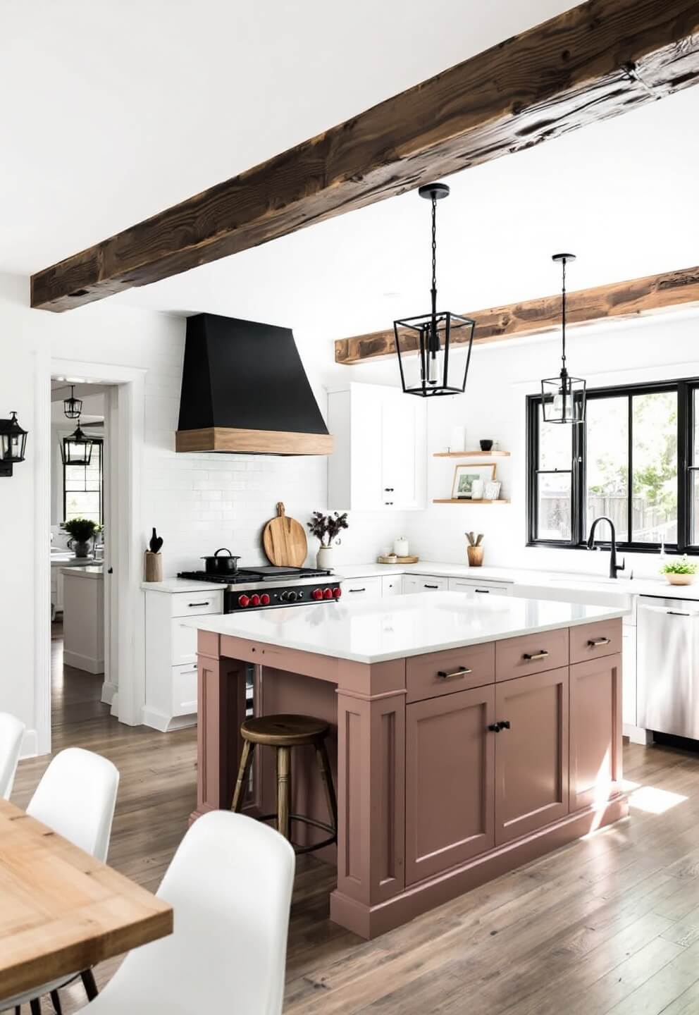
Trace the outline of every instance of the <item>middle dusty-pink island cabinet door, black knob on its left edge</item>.
<path fill-rule="evenodd" d="M 568 813 L 568 668 L 496 684 L 495 842 Z M 502 725 L 505 724 L 505 725 Z"/>

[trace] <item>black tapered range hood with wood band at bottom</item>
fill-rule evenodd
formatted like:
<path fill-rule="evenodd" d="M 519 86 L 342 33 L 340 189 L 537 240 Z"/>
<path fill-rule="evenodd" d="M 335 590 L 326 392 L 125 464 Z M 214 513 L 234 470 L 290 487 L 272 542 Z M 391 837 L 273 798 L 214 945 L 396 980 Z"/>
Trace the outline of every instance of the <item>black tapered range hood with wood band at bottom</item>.
<path fill-rule="evenodd" d="M 331 454 L 290 328 L 216 314 L 188 318 L 176 449 Z"/>

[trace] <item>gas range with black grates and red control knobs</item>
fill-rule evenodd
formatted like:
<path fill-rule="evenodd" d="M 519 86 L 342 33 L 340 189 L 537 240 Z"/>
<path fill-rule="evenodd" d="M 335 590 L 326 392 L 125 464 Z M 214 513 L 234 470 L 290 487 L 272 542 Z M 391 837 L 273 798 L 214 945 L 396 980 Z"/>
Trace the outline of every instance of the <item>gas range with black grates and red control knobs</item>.
<path fill-rule="evenodd" d="M 332 571 L 316 567 L 238 567 L 229 574 L 182 571 L 178 578 L 224 586 L 223 612 L 269 610 L 280 606 L 312 606 L 342 596 Z"/>

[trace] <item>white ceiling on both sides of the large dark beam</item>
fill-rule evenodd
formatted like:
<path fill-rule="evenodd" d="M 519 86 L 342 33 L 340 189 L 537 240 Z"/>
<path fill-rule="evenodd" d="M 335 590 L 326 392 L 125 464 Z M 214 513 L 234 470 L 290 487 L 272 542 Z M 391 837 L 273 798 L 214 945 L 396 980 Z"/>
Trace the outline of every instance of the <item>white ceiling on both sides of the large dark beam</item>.
<path fill-rule="evenodd" d="M 571 6 L 6 3 L 0 270 L 46 267 Z M 554 292 L 560 249 L 572 288 L 697 264 L 693 122 L 699 88 L 451 178 L 440 306 Z M 319 338 L 387 327 L 426 309 L 428 216 L 404 195 L 114 298 Z"/>

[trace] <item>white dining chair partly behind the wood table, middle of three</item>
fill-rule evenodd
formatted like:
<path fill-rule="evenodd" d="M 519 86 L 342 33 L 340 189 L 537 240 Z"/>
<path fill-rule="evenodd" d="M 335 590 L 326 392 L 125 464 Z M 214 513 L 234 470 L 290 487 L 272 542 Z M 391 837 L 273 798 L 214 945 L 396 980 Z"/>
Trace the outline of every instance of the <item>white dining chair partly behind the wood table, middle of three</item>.
<path fill-rule="evenodd" d="M 68 747 L 56 755 L 42 775 L 26 813 L 104 863 L 118 789 L 119 769 L 109 758 L 81 747 Z M 32 1015 L 39 1015 L 39 999 L 50 994 L 55 1011 L 61 1015 L 58 990 L 78 975 L 88 999 L 96 997 L 92 970 L 84 969 L 37 987 L 30 993 L 8 998 L 2 1002 L 2 1010 L 18 1009 L 28 1003 Z"/>

